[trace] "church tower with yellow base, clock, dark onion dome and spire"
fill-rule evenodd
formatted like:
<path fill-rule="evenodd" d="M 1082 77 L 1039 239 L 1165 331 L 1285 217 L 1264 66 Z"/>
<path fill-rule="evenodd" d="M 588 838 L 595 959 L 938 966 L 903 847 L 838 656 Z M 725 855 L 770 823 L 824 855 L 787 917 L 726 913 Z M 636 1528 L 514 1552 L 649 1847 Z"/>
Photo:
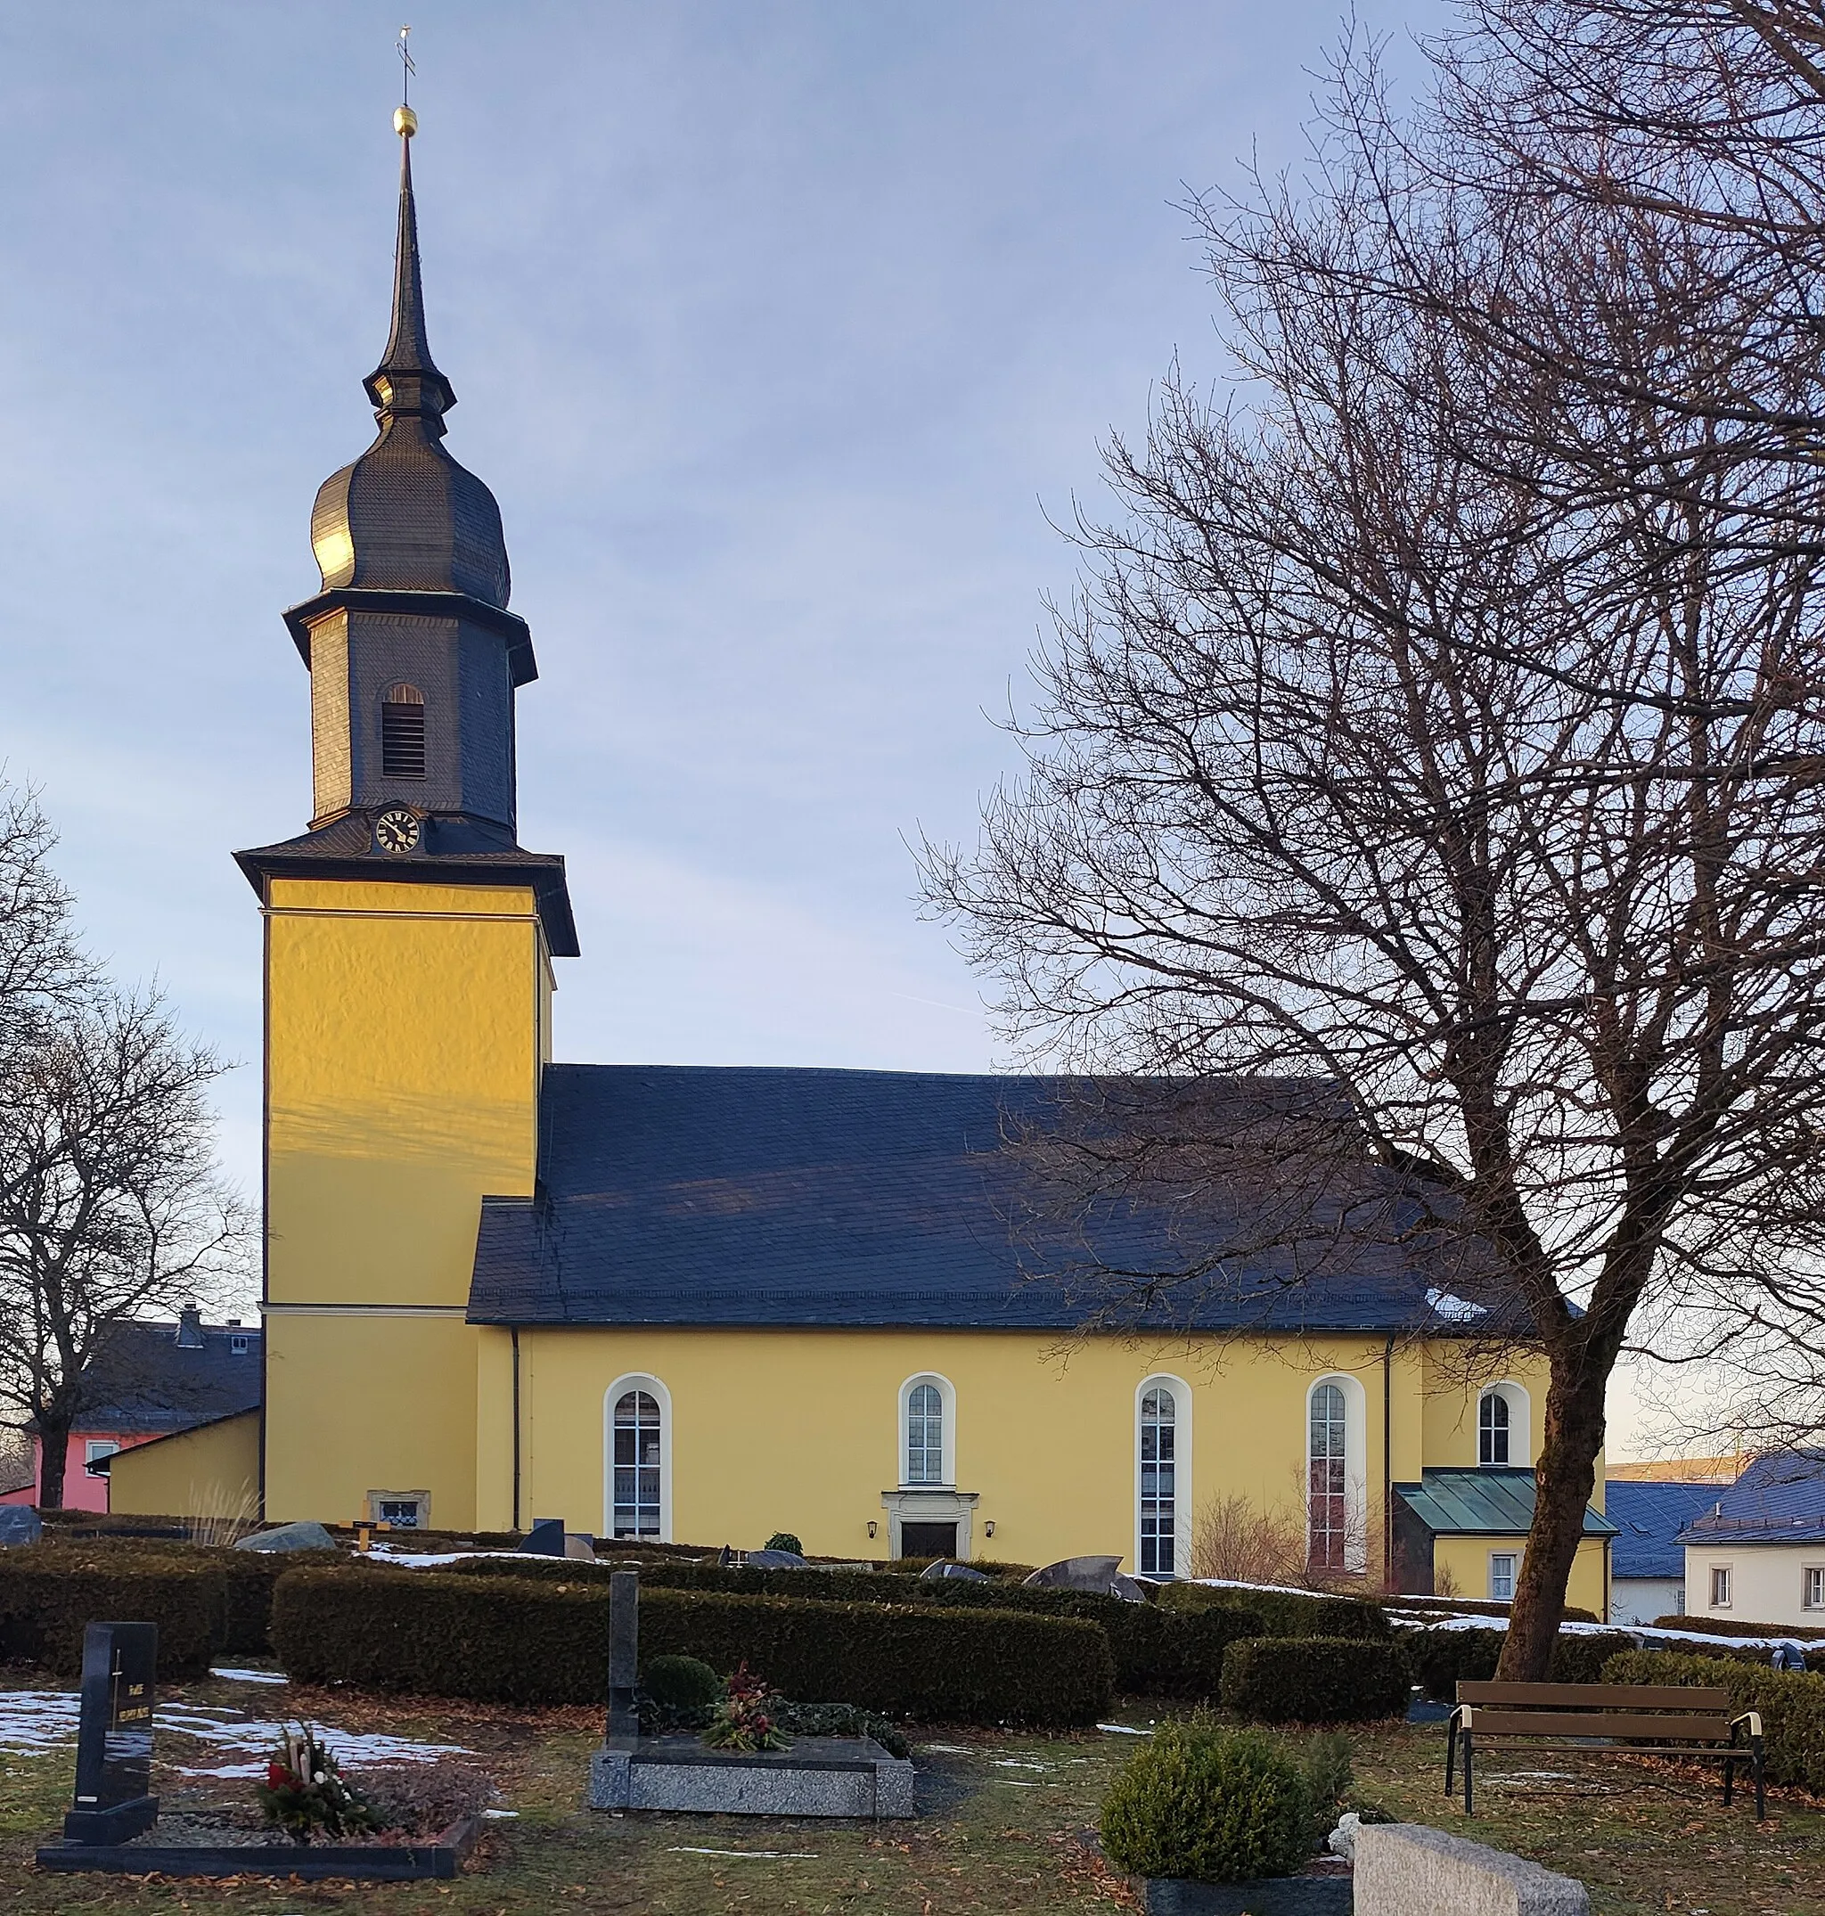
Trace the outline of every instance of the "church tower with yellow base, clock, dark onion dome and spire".
<path fill-rule="evenodd" d="M 400 136 L 377 435 L 310 515 L 312 816 L 237 853 L 266 922 L 266 1414 L 272 1519 L 515 1521 L 507 1334 L 465 1322 L 481 1201 L 529 1198 L 563 858 L 519 845 L 494 494 L 444 448 Z"/>

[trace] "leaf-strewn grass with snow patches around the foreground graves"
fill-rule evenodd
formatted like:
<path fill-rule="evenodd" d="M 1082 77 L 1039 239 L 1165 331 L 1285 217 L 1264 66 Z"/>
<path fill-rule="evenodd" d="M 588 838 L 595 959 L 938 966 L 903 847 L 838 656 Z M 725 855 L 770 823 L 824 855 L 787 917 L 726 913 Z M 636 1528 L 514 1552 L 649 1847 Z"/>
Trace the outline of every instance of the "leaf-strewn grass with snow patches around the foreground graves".
<path fill-rule="evenodd" d="M 25 1673 L 0 1690 L 44 1688 Z M 4 1703 L 4 1698 L 0 1698 Z M 33 1847 L 67 1807 L 73 1745 L 0 1757 L 0 1916 L 82 1908 L 304 1912 L 327 1906 L 458 1912 L 628 1910 L 653 1916 L 1040 1916 L 1134 1908 L 1084 1834 L 1136 1747 L 1115 1734 L 933 1730 L 915 1738 L 921 1814 L 910 1824 L 609 1816 L 582 1807 L 592 1711 L 506 1711 L 209 1680 L 180 1703 L 308 1715 L 331 1730 L 460 1744 L 486 1761 L 517 1814 L 490 1822 L 477 1866 L 454 1883 L 159 1882 L 40 1876 Z M 1145 1722 L 1145 1705 L 1124 1713 Z M 333 1744 L 333 1738 L 331 1738 Z M 1605 1916 L 1815 1916 L 1825 1910 L 1825 1807 L 1775 1797 L 1769 1822 L 1725 1811 L 1716 1774 L 1530 1753 L 1478 1763 L 1478 1814 L 1440 1795 L 1438 1724 L 1356 1738 L 1358 1793 L 1402 1820 L 1496 1843 L 1566 1870 Z M 180 1768 L 224 1765 L 220 1747 L 159 1730 L 161 1791 L 199 1788 Z M 1532 1778 L 1513 1772 L 1532 1770 Z M 1538 1774 L 1551 1772 L 1551 1774 Z M 1507 1780 L 1505 1780 L 1507 1776 Z M 203 1788 L 243 1790 L 239 1782 Z M 722 1851 L 722 1855 L 718 1855 Z M 774 1851 L 774 1855 L 760 1855 Z M 730 1855 L 733 1853 L 733 1855 Z"/>

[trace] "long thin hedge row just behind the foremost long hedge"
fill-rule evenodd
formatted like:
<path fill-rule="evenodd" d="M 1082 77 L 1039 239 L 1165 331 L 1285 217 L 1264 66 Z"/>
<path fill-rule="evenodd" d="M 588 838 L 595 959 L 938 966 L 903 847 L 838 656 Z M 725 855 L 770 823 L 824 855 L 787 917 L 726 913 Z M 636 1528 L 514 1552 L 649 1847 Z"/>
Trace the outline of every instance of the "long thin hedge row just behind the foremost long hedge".
<path fill-rule="evenodd" d="M 603 1583 L 609 1563 L 565 1563 L 559 1558 L 471 1558 L 452 1563 L 452 1575 L 576 1581 L 584 1573 Z M 912 1604 L 925 1609 L 1000 1609 L 1036 1617 L 1078 1617 L 1109 1638 L 1116 1688 L 1147 1696 L 1214 1698 L 1222 1682 L 1224 1650 L 1241 1636 L 1260 1636 L 1262 1617 L 1239 1604 L 1205 1609 L 1162 1609 L 1126 1604 L 1090 1590 L 1036 1590 L 1021 1583 L 975 1583 L 944 1577 L 931 1583 L 866 1569 L 722 1569 L 716 1563 L 642 1563 L 642 1590 L 716 1590 L 733 1596 L 785 1596 L 814 1604 Z"/>

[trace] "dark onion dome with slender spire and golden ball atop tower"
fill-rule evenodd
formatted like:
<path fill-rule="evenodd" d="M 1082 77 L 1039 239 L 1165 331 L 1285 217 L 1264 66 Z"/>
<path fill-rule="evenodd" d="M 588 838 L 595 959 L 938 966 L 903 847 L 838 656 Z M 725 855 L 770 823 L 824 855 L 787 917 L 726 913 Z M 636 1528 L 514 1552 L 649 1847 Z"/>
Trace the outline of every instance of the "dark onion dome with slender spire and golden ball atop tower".
<path fill-rule="evenodd" d="M 506 607 L 511 575 L 494 494 L 442 446 L 456 391 L 425 343 L 425 291 L 417 266 L 412 199 L 410 107 L 400 134 L 398 251 L 393 331 L 364 381 L 379 437 L 354 464 L 324 481 L 310 513 L 310 544 L 324 590 L 462 592 Z"/>

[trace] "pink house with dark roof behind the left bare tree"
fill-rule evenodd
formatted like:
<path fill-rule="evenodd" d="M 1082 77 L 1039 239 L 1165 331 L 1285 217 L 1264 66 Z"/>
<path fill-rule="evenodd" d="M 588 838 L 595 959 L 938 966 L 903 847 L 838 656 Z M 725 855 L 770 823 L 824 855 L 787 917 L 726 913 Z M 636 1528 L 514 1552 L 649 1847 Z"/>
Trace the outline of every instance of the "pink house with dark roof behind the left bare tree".
<path fill-rule="evenodd" d="M 260 1334 L 239 1318 L 205 1324 L 195 1309 L 176 1324 L 121 1324 L 84 1374 L 88 1408 L 69 1433 L 63 1508 L 107 1510 L 107 1458 L 213 1418 L 260 1404 Z M 33 1437 L 33 1473 L 0 1489 L 0 1504 L 36 1504 L 44 1447 Z"/>

